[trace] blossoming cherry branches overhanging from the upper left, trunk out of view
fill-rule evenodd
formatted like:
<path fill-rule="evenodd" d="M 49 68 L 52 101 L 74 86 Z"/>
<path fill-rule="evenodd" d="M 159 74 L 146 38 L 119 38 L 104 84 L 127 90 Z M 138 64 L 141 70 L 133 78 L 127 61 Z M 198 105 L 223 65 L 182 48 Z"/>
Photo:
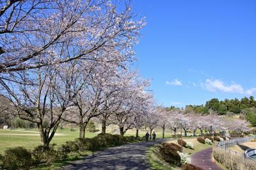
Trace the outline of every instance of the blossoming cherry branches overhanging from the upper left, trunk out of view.
<path fill-rule="evenodd" d="M 99 61 L 99 51 L 122 51 L 118 58 L 106 58 L 108 62 L 132 59 L 132 47 L 145 22 L 132 20 L 129 1 L 118 4 L 106 0 L 1 1 L 1 79 L 10 79 L 8 73 L 13 71 L 73 59 Z"/>

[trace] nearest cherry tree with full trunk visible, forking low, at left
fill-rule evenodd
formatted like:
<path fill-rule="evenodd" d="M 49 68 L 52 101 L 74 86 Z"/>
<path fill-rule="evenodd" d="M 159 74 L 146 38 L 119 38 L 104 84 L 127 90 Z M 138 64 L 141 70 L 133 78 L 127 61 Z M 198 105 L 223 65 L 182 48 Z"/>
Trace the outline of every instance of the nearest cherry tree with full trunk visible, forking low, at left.
<path fill-rule="evenodd" d="M 76 64 L 66 63 L 58 68 L 38 68 L 34 70 L 33 75 L 20 73 L 21 80 L 29 79 L 33 84 L 8 84 L 8 81 L 1 80 L 6 88 L 3 91 L 4 96 L 15 107 L 12 114 L 35 123 L 44 146 L 49 146 L 63 112 L 70 107 L 72 99 L 81 89 L 81 84 L 71 84 L 79 77 L 78 70 Z"/>

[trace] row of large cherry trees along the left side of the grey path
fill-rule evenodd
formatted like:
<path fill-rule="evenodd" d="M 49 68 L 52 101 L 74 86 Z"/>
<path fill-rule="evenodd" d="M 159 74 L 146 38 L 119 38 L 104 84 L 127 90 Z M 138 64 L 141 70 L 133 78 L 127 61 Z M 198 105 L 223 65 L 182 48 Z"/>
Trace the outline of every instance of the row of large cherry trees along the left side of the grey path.
<path fill-rule="evenodd" d="M 130 1 L 3 1 L 0 16 L 4 112 L 36 125 L 44 146 L 61 121 L 84 137 L 97 117 L 103 133 L 114 123 L 124 135 L 152 111 L 150 82 L 131 69 L 145 21 Z"/>

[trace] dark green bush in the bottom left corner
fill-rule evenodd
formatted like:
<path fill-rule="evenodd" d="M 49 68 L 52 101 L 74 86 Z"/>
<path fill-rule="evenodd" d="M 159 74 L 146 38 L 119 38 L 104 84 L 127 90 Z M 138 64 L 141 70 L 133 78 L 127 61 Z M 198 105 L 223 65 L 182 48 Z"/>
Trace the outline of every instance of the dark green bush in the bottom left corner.
<path fill-rule="evenodd" d="M 33 162 L 31 153 L 23 147 L 4 151 L 1 160 L 3 169 L 29 169 Z"/>

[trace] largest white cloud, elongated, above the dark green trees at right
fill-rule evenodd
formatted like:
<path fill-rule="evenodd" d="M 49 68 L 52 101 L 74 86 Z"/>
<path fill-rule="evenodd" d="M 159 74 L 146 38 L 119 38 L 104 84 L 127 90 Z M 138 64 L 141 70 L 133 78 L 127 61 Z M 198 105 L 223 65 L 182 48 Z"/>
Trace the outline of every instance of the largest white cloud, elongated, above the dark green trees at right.
<path fill-rule="evenodd" d="M 208 91 L 223 91 L 227 93 L 244 93 L 244 89 L 240 84 L 232 82 L 232 84 L 227 85 L 223 81 L 215 79 L 206 79 L 205 83 L 201 84 L 204 89 Z"/>

